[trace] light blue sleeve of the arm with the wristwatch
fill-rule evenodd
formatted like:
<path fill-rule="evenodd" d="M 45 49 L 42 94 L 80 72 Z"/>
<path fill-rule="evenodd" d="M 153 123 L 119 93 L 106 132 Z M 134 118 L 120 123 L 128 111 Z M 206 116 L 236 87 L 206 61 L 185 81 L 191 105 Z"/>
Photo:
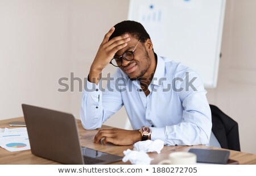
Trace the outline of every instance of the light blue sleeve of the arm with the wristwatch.
<path fill-rule="evenodd" d="M 182 122 L 171 126 L 152 127 L 151 139 L 161 139 L 165 145 L 208 144 L 212 119 L 203 81 L 193 71 L 189 72 L 187 81 L 184 75 L 176 75 L 176 78 L 184 80 L 176 87 L 177 89 L 183 88 L 183 91 L 178 92 L 183 106 Z M 186 84 L 193 78 L 196 78 L 193 85 L 188 87 Z"/>

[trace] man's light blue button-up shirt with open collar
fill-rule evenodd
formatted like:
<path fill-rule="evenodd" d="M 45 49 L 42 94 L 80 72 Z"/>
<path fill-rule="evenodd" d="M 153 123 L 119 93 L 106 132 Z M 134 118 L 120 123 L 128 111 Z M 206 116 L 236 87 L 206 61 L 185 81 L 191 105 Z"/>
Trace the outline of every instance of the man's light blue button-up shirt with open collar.
<path fill-rule="evenodd" d="M 100 87 L 101 81 L 98 85 L 87 81 L 82 94 L 80 118 L 85 129 L 100 128 L 124 105 L 133 129 L 150 127 L 151 140 L 163 140 L 165 145 L 209 143 L 212 120 L 207 92 L 190 68 L 158 57 L 148 96 L 138 80 L 131 81 L 119 68 L 105 91 Z"/>

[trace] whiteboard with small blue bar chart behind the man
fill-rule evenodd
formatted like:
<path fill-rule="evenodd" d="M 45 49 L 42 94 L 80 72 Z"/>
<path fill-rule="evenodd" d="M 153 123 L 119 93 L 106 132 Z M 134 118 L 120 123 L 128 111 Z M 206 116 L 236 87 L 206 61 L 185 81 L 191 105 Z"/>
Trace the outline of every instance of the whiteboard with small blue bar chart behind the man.
<path fill-rule="evenodd" d="M 195 70 L 216 88 L 225 0 L 130 0 L 129 20 L 142 23 L 156 54 Z"/>

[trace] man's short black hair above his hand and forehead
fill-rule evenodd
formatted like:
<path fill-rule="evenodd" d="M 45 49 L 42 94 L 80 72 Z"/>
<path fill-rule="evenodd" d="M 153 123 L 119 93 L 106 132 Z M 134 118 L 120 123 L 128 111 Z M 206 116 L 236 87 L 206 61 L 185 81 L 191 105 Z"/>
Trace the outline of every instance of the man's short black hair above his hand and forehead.
<path fill-rule="evenodd" d="M 111 40 L 114 37 L 121 36 L 124 33 L 129 33 L 133 37 L 137 38 L 138 40 L 141 39 L 141 42 L 145 42 L 147 38 L 150 39 L 146 29 L 143 27 L 141 23 L 126 20 L 114 25 L 115 31 L 109 37 Z"/>

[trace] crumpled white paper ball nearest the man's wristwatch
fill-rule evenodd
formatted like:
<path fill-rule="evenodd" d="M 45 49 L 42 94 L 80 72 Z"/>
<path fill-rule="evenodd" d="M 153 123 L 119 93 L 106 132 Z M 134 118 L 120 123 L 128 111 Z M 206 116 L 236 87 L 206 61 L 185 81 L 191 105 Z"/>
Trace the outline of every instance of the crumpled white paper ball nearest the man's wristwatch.
<path fill-rule="evenodd" d="M 154 141 L 152 140 L 138 141 L 133 145 L 133 147 L 135 151 L 160 153 L 160 151 L 164 147 L 164 141 L 160 139 L 156 139 Z"/>

